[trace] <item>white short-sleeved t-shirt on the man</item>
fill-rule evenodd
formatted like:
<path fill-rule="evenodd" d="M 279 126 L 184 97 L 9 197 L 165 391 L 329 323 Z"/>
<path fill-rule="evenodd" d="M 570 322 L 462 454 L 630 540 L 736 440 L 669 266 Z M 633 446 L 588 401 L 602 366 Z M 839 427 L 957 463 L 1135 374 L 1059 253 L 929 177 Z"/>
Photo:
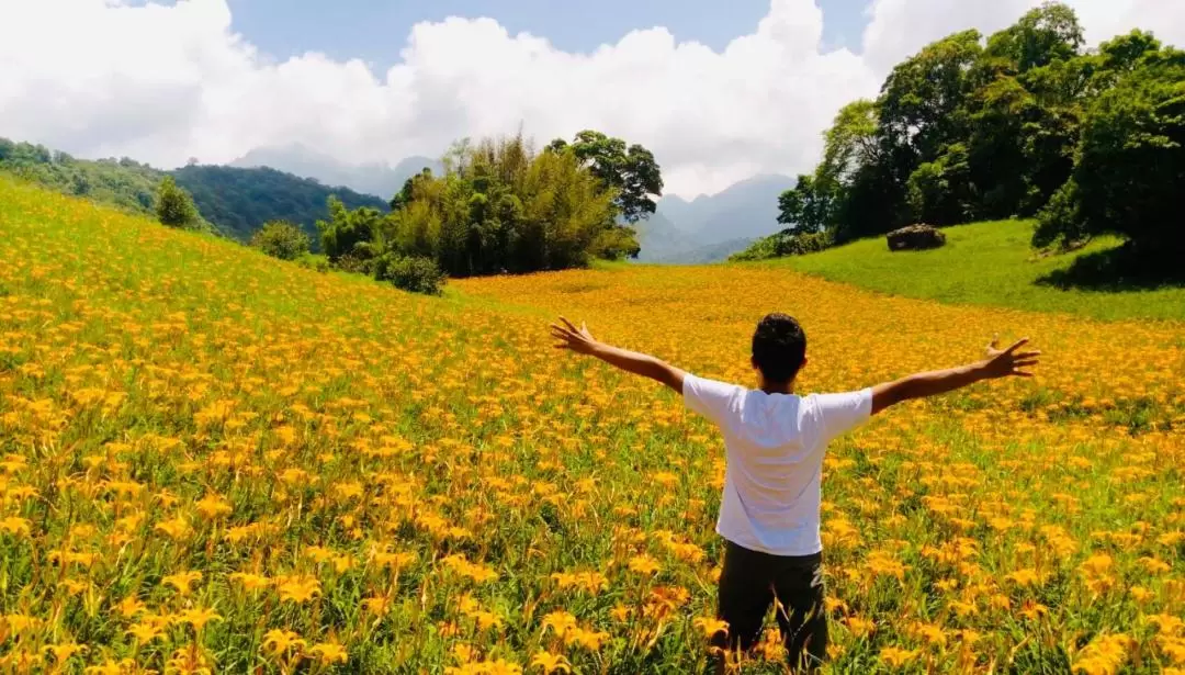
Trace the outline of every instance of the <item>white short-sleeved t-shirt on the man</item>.
<path fill-rule="evenodd" d="M 828 441 L 872 414 L 872 389 L 767 394 L 687 374 L 683 397 L 724 433 L 726 469 L 716 531 L 774 555 L 822 550 L 822 457 Z"/>

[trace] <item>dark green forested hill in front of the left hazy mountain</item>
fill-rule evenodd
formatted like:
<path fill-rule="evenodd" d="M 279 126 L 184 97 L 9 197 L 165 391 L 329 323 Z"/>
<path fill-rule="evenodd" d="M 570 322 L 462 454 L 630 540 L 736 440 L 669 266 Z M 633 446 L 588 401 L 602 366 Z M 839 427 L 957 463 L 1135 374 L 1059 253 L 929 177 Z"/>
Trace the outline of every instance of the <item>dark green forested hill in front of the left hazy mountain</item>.
<path fill-rule="evenodd" d="M 193 195 L 204 218 L 228 236 L 248 241 L 268 221 L 288 221 L 318 241 L 316 221 L 328 217 L 326 205 L 335 195 L 347 209 L 370 206 L 389 211 L 385 199 L 348 187 L 328 187 L 275 168 L 186 166 L 171 172 Z M 315 246 L 315 244 L 314 244 Z"/>

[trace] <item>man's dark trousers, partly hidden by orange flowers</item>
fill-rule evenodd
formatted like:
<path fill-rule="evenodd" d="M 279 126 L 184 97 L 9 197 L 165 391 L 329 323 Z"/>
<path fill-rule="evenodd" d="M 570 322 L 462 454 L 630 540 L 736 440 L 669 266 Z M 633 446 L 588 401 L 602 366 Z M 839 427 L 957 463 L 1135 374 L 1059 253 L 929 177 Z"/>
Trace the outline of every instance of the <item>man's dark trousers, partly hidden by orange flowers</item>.
<path fill-rule="evenodd" d="M 821 553 L 770 555 L 726 541 L 717 617 L 729 630 L 712 636 L 711 647 L 748 651 L 761 637 L 766 612 L 774 604 L 790 667 L 812 671 L 827 655 L 822 599 Z"/>

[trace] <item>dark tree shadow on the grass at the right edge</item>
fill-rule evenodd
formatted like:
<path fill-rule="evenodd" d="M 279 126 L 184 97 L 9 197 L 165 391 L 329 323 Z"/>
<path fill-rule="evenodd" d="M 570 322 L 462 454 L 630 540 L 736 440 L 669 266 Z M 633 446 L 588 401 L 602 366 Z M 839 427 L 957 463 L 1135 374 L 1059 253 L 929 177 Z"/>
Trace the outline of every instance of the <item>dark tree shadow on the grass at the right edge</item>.
<path fill-rule="evenodd" d="M 1185 288 L 1185 259 L 1138 254 L 1130 244 L 1081 255 L 1064 269 L 1037 279 L 1038 286 L 1062 291 L 1154 291 Z"/>

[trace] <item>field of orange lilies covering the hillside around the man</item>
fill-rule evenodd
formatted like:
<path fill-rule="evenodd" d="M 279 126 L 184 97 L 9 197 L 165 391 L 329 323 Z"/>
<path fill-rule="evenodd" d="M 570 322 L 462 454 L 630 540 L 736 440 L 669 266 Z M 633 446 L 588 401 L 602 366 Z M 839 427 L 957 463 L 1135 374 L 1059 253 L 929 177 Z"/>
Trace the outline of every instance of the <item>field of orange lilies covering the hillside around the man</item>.
<path fill-rule="evenodd" d="M 1031 336 L 1039 376 L 833 444 L 833 673 L 1185 673 L 1185 323 L 875 295 L 771 268 L 319 274 L 0 178 L 0 671 L 691 673 L 722 442 L 601 338 L 800 389 Z M 775 643 L 744 673 L 781 673 Z"/>

